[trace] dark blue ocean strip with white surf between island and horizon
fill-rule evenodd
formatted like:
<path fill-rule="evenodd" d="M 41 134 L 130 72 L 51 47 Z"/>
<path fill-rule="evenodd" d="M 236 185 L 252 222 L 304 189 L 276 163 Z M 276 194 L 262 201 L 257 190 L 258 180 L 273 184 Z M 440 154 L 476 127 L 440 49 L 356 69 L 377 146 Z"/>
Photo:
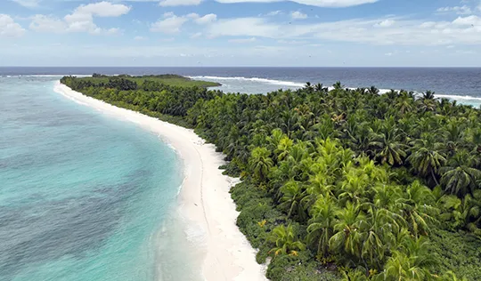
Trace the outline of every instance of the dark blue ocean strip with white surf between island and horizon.
<path fill-rule="evenodd" d="M 225 92 L 265 93 L 306 82 L 330 86 L 434 91 L 438 97 L 481 103 L 481 68 L 0 68 L 0 76 L 178 74 L 223 84 Z"/>

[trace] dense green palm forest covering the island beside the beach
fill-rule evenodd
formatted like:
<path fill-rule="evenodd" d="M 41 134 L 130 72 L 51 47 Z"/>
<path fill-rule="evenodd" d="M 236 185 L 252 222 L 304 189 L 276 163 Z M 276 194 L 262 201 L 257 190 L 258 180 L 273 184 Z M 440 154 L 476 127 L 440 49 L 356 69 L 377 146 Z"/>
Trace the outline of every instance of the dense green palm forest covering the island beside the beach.
<path fill-rule="evenodd" d="M 61 82 L 224 152 L 270 279 L 481 280 L 480 110 L 340 83 L 249 95 L 92 79 Z"/>

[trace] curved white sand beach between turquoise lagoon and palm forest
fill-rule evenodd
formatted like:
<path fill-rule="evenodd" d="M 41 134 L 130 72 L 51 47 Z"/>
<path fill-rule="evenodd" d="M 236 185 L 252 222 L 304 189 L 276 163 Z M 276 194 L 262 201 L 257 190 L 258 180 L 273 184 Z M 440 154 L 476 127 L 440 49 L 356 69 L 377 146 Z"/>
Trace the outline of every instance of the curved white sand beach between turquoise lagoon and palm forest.
<path fill-rule="evenodd" d="M 72 91 L 60 82 L 54 90 L 78 103 L 158 133 L 182 157 L 185 178 L 179 194 L 180 211 L 203 230 L 205 280 L 266 280 L 264 267 L 256 262 L 256 251 L 235 225 L 239 213 L 235 211 L 229 189 L 237 179 L 223 175 L 218 169 L 223 157 L 216 153 L 214 145 L 204 144 L 193 130 L 117 108 Z"/>

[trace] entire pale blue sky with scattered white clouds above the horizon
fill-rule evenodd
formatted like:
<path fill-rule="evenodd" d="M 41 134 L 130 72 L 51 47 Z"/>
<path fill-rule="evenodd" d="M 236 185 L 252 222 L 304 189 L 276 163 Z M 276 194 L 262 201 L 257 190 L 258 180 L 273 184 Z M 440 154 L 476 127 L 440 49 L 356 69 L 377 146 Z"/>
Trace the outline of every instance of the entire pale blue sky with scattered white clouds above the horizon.
<path fill-rule="evenodd" d="M 481 67 L 481 0 L 0 0 L 0 66 Z"/>

